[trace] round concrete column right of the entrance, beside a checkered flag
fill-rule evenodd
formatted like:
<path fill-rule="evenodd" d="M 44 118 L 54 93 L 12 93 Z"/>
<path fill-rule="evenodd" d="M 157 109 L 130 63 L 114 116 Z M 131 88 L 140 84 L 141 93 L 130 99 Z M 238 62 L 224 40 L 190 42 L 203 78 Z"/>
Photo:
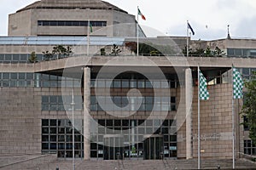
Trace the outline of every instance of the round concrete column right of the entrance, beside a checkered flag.
<path fill-rule="evenodd" d="M 191 69 L 185 71 L 185 99 L 186 99 L 186 158 L 193 157 L 192 153 L 192 74 Z"/>

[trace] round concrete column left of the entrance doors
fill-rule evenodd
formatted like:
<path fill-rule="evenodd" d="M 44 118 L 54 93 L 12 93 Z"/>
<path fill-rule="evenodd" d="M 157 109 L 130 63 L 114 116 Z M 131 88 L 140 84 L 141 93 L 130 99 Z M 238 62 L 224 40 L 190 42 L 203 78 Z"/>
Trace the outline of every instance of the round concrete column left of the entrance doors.
<path fill-rule="evenodd" d="M 84 160 L 90 160 L 90 68 L 84 68 Z"/>

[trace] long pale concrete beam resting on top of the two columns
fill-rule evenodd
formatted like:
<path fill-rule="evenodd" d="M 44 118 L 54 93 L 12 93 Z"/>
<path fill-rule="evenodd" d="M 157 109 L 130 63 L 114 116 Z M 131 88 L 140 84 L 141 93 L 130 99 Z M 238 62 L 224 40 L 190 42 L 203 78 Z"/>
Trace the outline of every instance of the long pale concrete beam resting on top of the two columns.
<path fill-rule="evenodd" d="M 82 56 L 41 61 L 35 64 L 0 64 L 2 72 L 44 72 L 84 66 L 160 66 L 160 67 L 256 67 L 256 59 L 227 57 L 177 57 L 177 56 Z"/>

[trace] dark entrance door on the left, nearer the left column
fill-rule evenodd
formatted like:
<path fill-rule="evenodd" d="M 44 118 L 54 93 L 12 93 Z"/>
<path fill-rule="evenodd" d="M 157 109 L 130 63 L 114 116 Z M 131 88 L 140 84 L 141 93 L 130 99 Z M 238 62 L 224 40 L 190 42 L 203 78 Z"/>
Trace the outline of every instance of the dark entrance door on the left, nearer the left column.
<path fill-rule="evenodd" d="M 124 144 L 123 135 L 106 134 L 104 135 L 104 160 L 123 159 Z"/>

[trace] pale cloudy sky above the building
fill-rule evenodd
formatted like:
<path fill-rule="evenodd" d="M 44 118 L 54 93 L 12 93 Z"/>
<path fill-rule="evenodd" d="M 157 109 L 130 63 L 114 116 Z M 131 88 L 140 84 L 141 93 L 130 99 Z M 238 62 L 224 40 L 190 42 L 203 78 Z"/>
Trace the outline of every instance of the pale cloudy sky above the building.
<path fill-rule="evenodd" d="M 140 25 L 166 36 L 186 36 L 187 20 L 195 31 L 192 39 L 211 40 L 230 36 L 256 38 L 256 0 L 105 0 L 146 20 Z M 0 36 L 8 34 L 8 15 L 36 0 L 0 0 Z"/>

